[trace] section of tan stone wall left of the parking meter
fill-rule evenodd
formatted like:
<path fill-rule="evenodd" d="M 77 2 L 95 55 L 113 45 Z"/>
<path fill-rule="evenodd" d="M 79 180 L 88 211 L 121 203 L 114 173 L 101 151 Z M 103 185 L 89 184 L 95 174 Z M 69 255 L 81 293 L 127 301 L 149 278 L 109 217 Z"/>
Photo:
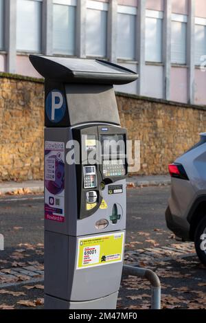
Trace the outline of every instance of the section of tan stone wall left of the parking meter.
<path fill-rule="evenodd" d="M 0 180 L 43 179 L 43 82 L 0 77 Z"/>

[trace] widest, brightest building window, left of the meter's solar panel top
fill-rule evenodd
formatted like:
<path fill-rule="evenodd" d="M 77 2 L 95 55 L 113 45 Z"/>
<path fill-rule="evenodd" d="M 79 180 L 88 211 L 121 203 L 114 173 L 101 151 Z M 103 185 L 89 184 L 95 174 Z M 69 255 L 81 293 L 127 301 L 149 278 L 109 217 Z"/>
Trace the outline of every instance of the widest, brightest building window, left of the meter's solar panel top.
<path fill-rule="evenodd" d="M 42 0 L 17 0 L 16 49 L 41 52 Z"/>

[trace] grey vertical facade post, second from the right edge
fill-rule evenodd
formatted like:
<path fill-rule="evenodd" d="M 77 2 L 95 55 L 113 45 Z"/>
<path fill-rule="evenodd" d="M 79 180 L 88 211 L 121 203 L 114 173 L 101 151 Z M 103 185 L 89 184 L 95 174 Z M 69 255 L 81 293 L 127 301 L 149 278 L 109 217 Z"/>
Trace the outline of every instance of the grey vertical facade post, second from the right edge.
<path fill-rule="evenodd" d="M 170 70 L 171 70 L 171 13 L 172 1 L 164 1 L 164 18 L 163 18 L 163 79 L 165 100 L 170 100 Z"/>

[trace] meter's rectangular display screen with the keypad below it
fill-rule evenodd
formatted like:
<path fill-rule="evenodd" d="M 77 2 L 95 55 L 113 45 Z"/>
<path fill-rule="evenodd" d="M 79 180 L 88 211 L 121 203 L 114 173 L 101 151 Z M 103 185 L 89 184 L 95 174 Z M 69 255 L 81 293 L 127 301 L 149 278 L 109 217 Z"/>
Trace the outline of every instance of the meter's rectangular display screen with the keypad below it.
<path fill-rule="evenodd" d="M 126 175 L 125 135 L 102 135 L 101 144 L 104 177 Z"/>

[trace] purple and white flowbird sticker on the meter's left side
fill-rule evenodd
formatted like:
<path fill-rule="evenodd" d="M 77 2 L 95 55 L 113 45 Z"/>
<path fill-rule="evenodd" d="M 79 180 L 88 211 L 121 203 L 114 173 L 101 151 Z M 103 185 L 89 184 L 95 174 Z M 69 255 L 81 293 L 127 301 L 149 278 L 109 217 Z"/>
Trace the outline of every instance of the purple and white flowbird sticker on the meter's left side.
<path fill-rule="evenodd" d="M 45 219 L 65 221 L 64 142 L 45 142 Z"/>

